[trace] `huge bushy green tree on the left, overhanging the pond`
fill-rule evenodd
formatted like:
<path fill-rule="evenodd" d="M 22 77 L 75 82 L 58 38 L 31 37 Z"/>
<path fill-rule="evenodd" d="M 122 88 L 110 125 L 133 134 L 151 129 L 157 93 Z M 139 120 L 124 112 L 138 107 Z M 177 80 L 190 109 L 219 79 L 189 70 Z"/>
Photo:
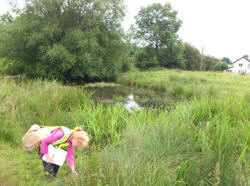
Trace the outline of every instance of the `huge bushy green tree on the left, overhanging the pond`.
<path fill-rule="evenodd" d="M 121 69 L 122 0 L 26 0 L 0 34 L 0 55 L 32 77 L 109 80 Z M 1 43 L 1 42 L 0 42 Z"/>

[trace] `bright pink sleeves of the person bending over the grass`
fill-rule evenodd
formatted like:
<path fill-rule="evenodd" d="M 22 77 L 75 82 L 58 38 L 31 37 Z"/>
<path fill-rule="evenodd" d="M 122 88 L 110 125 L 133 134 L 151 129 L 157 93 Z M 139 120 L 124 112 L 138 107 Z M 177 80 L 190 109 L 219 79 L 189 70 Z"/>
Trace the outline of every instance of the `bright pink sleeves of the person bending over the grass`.
<path fill-rule="evenodd" d="M 58 139 L 63 137 L 63 135 L 64 133 L 62 129 L 58 128 L 53 133 L 51 133 L 51 135 L 49 135 L 47 138 L 42 139 L 41 147 L 40 147 L 41 154 L 47 154 L 48 145 L 53 142 L 56 142 Z M 71 139 L 72 139 L 72 136 L 66 141 L 67 143 L 69 143 L 67 156 L 66 156 L 69 167 L 72 167 L 74 165 L 74 147 L 72 146 Z"/>

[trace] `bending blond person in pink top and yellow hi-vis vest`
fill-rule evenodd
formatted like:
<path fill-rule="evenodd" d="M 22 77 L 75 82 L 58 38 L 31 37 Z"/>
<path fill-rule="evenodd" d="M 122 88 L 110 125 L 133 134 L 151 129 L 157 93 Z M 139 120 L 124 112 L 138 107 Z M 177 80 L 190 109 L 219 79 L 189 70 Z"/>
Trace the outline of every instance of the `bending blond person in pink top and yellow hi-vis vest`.
<path fill-rule="evenodd" d="M 54 145 L 56 148 L 67 149 L 66 159 L 73 174 L 77 175 L 74 165 L 74 148 L 87 148 L 89 137 L 80 127 L 70 130 L 67 127 L 47 127 L 42 129 L 41 133 L 45 137 L 41 140 L 40 155 L 45 155 L 46 160 L 42 160 L 44 171 L 48 175 L 56 177 L 60 166 L 52 162 L 52 157 L 49 155 L 48 146 Z"/>

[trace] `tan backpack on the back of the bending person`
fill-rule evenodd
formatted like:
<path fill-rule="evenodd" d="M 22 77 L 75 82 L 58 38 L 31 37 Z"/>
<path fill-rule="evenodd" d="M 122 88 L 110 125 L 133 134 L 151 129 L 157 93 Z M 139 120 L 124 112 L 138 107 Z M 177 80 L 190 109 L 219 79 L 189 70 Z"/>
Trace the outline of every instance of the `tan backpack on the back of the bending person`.
<path fill-rule="evenodd" d="M 30 153 L 39 147 L 41 143 L 41 139 L 36 134 L 36 131 L 39 130 L 40 128 L 42 127 L 40 127 L 37 124 L 34 124 L 30 127 L 28 132 L 23 136 L 22 145 L 23 145 L 24 151 Z"/>

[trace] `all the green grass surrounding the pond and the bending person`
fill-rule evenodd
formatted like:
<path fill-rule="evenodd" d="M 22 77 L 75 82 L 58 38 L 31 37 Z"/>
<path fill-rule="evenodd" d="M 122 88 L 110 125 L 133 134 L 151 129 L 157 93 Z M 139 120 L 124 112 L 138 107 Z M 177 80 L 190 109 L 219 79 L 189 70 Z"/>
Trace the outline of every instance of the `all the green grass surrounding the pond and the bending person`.
<path fill-rule="evenodd" d="M 77 87 L 0 80 L 0 185 L 250 185 L 249 77 L 159 71 L 119 82 L 169 92 L 180 86 L 171 93 L 181 101 L 170 111 L 129 114 L 94 104 Z M 78 177 L 65 164 L 55 180 L 45 179 L 37 153 L 20 145 L 33 123 L 89 133 L 90 147 L 75 153 Z"/>

